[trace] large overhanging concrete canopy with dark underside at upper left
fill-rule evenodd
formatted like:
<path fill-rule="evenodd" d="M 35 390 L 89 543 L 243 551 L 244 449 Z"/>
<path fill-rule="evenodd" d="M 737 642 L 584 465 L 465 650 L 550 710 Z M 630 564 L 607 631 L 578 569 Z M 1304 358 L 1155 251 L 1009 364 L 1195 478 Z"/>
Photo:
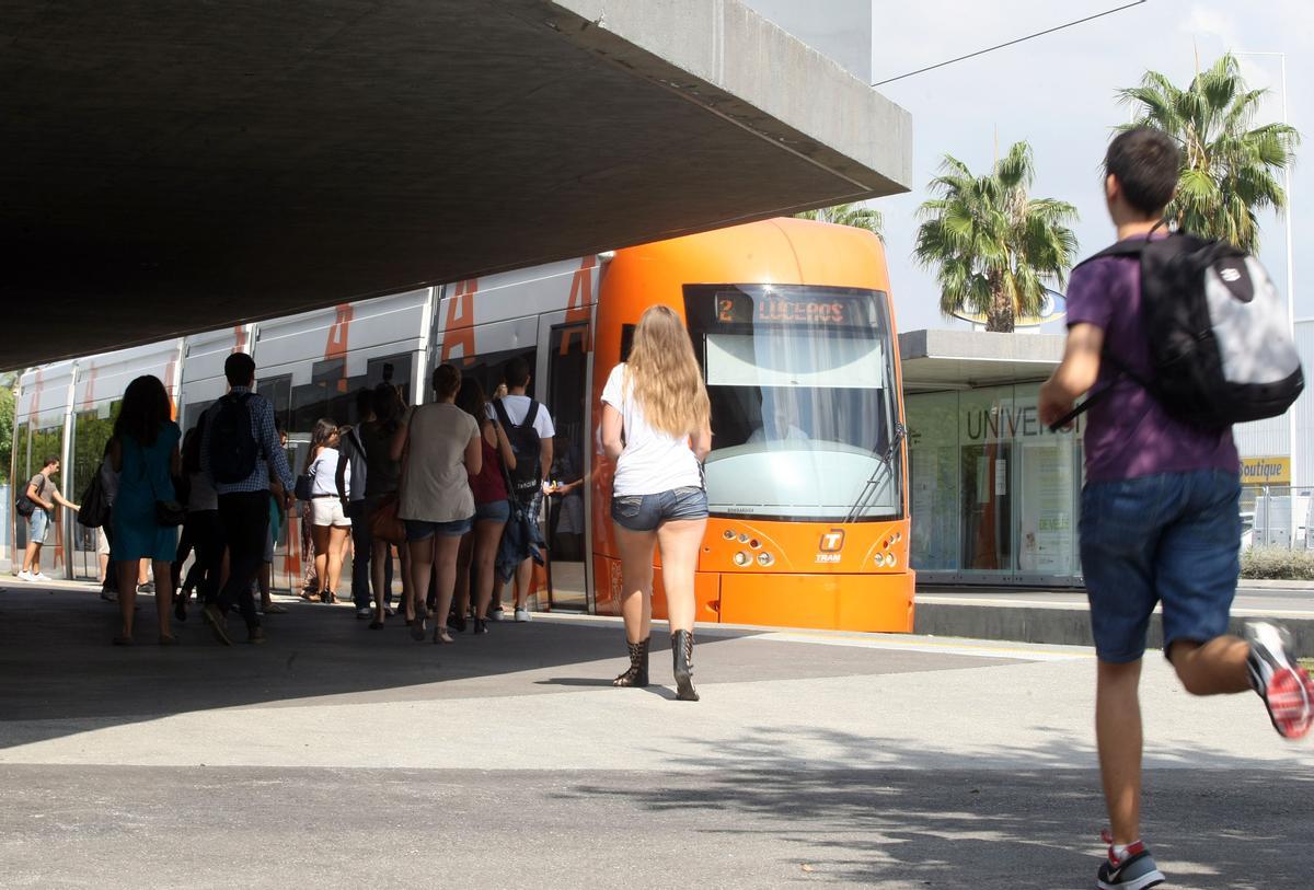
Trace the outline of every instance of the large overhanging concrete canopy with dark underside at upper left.
<path fill-rule="evenodd" d="M 0 368 L 911 179 L 908 114 L 735 0 L 12 0 L 0 49 Z"/>

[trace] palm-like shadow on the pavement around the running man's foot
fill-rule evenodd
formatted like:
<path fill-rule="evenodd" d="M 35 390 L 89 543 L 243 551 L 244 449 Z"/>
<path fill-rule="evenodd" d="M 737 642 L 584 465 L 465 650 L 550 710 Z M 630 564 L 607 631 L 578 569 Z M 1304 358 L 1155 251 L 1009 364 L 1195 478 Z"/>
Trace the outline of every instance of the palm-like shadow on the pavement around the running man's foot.
<path fill-rule="evenodd" d="M 1095 885 L 1105 824 L 1100 777 L 1071 768 L 1091 763 L 1087 748 L 1058 742 L 992 750 L 989 769 L 899 771 L 862 765 L 872 747 L 891 753 L 886 739 L 827 730 L 813 740 L 834 752 L 816 768 L 799 769 L 782 753 L 788 739 L 758 729 L 729 751 L 717 744 L 716 757 L 740 768 L 707 776 L 687 772 L 699 757 L 674 759 L 673 772 L 654 776 L 648 789 L 599 773 L 561 797 L 624 799 L 661 820 L 719 814 L 691 847 L 733 849 L 744 832 L 769 832 L 799 879 L 972 890 Z M 1183 750 L 1180 768 L 1146 773 L 1143 836 L 1168 886 L 1310 886 L 1314 849 L 1303 824 L 1314 777 L 1242 759 L 1192 769 L 1206 750 Z M 905 753 L 916 763 L 917 751 Z M 995 768 L 1000 759 L 1003 769 Z"/>

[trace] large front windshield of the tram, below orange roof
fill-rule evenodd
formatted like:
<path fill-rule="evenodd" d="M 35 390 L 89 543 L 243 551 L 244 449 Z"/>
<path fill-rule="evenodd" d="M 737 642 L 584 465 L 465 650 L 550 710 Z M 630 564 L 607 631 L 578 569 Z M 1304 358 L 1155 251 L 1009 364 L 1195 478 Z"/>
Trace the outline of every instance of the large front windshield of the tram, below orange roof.
<path fill-rule="evenodd" d="M 807 285 L 686 285 L 712 403 L 714 516 L 862 521 L 901 509 L 887 297 Z"/>

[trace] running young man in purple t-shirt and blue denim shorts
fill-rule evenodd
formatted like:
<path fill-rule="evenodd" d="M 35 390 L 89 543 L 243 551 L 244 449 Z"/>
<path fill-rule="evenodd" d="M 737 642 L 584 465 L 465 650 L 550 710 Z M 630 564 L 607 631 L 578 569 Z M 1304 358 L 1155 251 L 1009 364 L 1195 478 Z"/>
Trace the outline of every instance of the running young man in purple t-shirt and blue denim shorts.
<path fill-rule="evenodd" d="M 1177 185 L 1176 142 L 1151 129 L 1122 133 L 1105 156 L 1105 198 L 1118 240 L 1166 236 Z M 1156 231 L 1158 230 L 1158 231 Z M 1164 881 L 1141 841 L 1141 704 L 1146 626 L 1163 603 L 1164 654 L 1187 692 L 1255 689 L 1277 731 L 1310 729 L 1314 687 L 1269 624 L 1227 635 L 1240 571 L 1239 459 L 1231 429 L 1204 431 L 1171 417 L 1121 375 L 1101 350 L 1144 379 L 1150 347 L 1141 326 L 1141 268 L 1110 256 L 1072 272 L 1063 361 L 1041 387 L 1041 417 L 1055 423 L 1099 383 L 1085 431 L 1081 567 L 1099 656 L 1096 739 L 1112 823 L 1100 887 L 1142 890 Z"/>

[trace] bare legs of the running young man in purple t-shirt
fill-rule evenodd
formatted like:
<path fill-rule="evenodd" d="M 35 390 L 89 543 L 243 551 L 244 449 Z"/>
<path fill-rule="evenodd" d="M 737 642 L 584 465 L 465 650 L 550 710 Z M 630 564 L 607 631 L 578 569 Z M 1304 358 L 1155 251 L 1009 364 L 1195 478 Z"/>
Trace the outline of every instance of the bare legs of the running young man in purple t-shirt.
<path fill-rule="evenodd" d="M 1246 656 L 1250 645 L 1239 637 L 1208 643 L 1176 641 L 1168 650 L 1187 692 L 1215 696 L 1250 689 Z M 1141 839 L 1141 662 L 1100 662 L 1095 698 L 1095 735 L 1100 747 L 1104 799 L 1109 807 L 1113 843 Z"/>

